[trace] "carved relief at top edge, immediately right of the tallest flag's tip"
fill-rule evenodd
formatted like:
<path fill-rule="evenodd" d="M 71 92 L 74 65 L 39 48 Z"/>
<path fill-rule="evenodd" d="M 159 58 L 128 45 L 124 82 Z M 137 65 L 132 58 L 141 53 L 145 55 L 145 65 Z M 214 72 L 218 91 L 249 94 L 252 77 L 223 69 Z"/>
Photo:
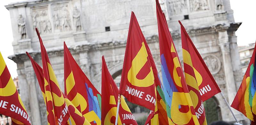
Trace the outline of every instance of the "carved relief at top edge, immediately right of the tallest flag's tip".
<path fill-rule="evenodd" d="M 168 8 L 171 15 L 181 14 L 182 9 L 187 9 L 187 0 L 170 0 Z"/>

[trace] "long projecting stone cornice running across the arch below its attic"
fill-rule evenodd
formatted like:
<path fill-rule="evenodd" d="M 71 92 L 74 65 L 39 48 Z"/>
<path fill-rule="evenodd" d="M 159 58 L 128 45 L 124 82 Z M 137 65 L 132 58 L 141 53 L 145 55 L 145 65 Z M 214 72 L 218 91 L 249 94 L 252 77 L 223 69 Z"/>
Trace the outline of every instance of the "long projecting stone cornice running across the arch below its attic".
<path fill-rule="evenodd" d="M 187 31 L 190 36 L 197 36 L 197 35 L 204 35 L 204 34 L 213 34 L 213 33 L 225 31 L 225 30 L 236 30 L 240 25 L 241 23 L 232 23 L 230 25 L 219 24 L 219 25 L 214 25 L 209 27 L 188 29 Z M 173 32 L 172 38 L 179 39 L 180 31 Z M 147 43 L 156 43 L 158 42 L 158 36 L 152 35 L 152 36 L 146 37 L 146 41 Z M 77 45 L 75 47 L 69 47 L 69 51 L 72 54 L 77 54 L 80 52 L 92 52 L 92 51 L 98 51 L 98 50 L 115 49 L 115 48 L 120 48 L 125 46 L 126 46 L 126 41 L 110 41 L 105 43 L 86 43 L 86 44 Z M 29 53 L 35 59 L 38 59 L 41 57 L 40 51 L 29 51 Z M 48 49 L 47 53 L 49 57 L 63 56 L 63 49 L 56 47 L 56 48 Z M 15 55 L 11 55 L 9 56 L 9 59 L 12 59 L 16 63 L 19 63 L 19 62 L 28 60 L 28 57 L 24 52 L 24 53 L 17 53 Z"/>

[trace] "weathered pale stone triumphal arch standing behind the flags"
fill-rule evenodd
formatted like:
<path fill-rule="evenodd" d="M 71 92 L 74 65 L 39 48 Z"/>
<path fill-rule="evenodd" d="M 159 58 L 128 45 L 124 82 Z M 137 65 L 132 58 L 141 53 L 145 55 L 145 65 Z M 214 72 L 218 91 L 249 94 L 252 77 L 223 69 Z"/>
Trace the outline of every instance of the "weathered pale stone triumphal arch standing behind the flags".
<path fill-rule="evenodd" d="M 229 0 L 160 0 L 172 38 L 182 61 L 181 20 L 229 104 L 232 103 L 243 74 Z M 30 60 L 41 65 L 40 31 L 61 90 L 64 90 L 63 41 L 92 81 L 101 89 L 101 56 L 116 83 L 120 81 L 131 11 L 134 11 L 153 54 L 159 76 L 161 62 L 155 0 L 28 0 L 5 6 L 11 15 L 14 55 L 20 95 L 33 125 L 46 125 L 46 108 Z M 209 104 L 209 105 L 208 105 Z M 211 105 L 210 105 L 211 104 Z M 220 94 L 205 103 L 207 121 L 234 122 Z M 136 112 L 136 111 L 135 111 Z M 235 111 L 239 121 L 249 122 Z M 214 116 L 214 117 L 213 117 Z M 211 119 L 210 119 L 211 118 Z"/>

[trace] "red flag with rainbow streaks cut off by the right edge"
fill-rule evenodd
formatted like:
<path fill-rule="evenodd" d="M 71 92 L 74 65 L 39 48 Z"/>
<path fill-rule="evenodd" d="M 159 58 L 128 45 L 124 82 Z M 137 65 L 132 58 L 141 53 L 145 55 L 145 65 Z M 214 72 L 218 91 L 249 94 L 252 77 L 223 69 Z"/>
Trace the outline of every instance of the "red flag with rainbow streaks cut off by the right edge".
<path fill-rule="evenodd" d="M 248 119 L 252 121 L 252 124 L 256 122 L 256 69 L 255 69 L 255 56 L 256 56 L 256 44 L 252 53 L 249 66 L 244 74 L 242 83 L 236 93 L 231 107 L 235 108 L 239 112 L 243 113 Z"/>

